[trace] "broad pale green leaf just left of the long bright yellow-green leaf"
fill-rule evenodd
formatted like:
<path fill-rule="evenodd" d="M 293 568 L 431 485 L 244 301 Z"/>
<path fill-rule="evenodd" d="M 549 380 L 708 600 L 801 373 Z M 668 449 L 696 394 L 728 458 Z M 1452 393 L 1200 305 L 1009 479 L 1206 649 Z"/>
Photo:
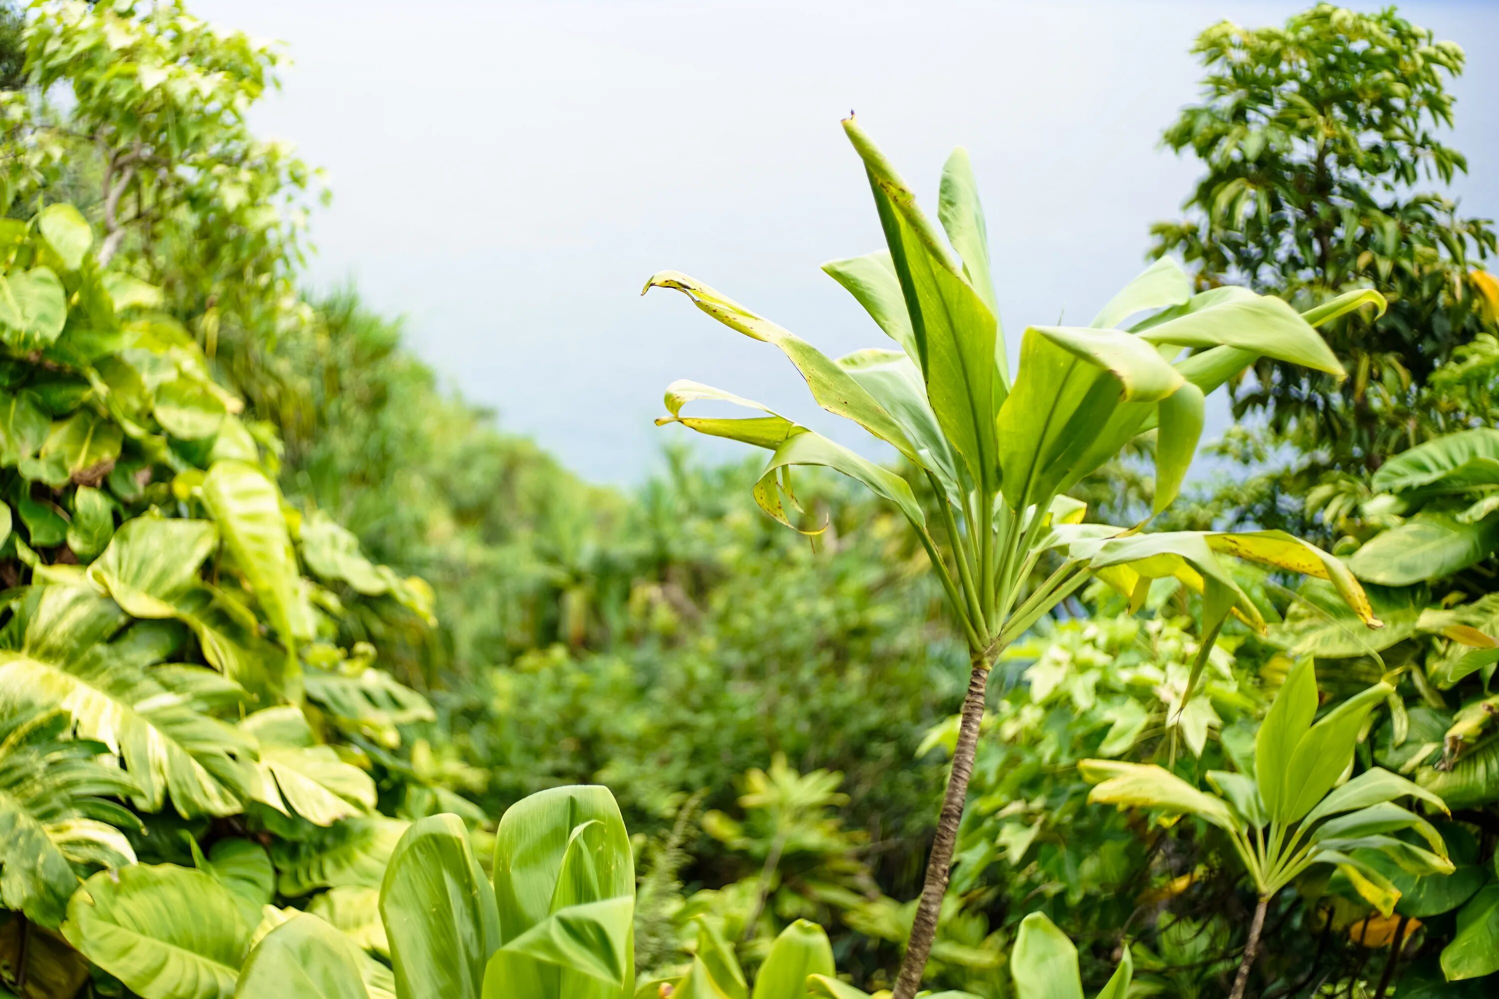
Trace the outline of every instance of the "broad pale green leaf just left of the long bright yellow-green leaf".
<path fill-rule="evenodd" d="M 135 517 L 88 566 L 88 578 L 132 617 L 177 617 L 181 596 L 217 547 L 213 521 Z"/>

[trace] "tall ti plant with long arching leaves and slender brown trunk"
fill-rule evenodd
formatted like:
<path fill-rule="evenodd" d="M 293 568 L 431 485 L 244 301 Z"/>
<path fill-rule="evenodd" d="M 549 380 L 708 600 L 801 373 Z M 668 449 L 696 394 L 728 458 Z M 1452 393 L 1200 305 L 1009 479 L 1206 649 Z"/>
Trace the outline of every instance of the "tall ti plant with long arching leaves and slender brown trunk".
<path fill-rule="evenodd" d="M 863 160 L 889 249 L 823 270 L 854 295 L 896 349 L 857 350 L 835 361 L 685 274 L 660 273 L 646 289 L 682 291 L 729 328 L 781 349 L 823 409 L 892 445 L 937 496 L 934 527 L 905 478 L 760 403 L 697 382 L 667 389 L 670 415 L 658 422 L 681 422 L 772 452 L 754 496 L 781 523 L 793 526 L 782 502 L 796 506 L 791 466 L 832 467 L 895 503 L 925 547 L 967 638 L 971 675 L 952 774 L 893 993 L 911 999 L 947 885 L 989 669 L 1010 641 L 1060 601 L 1093 575 L 1139 599 L 1148 580 L 1177 577 L 1204 596 L 1207 649 L 1231 611 L 1259 623 L 1253 604 L 1217 559 L 1232 554 L 1330 578 L 1366 623 L 1376 623 L 1352 574 L 1295 538 L 1273 532 L 1139 535 L 1138 527 L 1081 524 L 1082 505 L 1066 491 L 1130 439 L 1154 430 L 1154 506 L 1163 509 L 1196 451 L 1205 394 L 1259 358 L 1343 376 L 1313 327 L 1384 301 L 1375 292 L 1349 292 L 1298 315 L 1244 288 L 1193 295 L 1181 268 L 1163 259 L 1115 295 L 1091 325 L 1028 327 L 1019 370 L 1010 379 L 968 154 L 959 148 L 943 171 L 943 240 L 853 118 L 844 130 Z M 1190 353 L 1178 356 L 1183 352 Z M 682 415 L 684 406 L 699 401 L 733 403 L 761 415 Z M 1033 583 L 1048 553 L 1060 554 L 1051 556 L 1060 565 Z"/>

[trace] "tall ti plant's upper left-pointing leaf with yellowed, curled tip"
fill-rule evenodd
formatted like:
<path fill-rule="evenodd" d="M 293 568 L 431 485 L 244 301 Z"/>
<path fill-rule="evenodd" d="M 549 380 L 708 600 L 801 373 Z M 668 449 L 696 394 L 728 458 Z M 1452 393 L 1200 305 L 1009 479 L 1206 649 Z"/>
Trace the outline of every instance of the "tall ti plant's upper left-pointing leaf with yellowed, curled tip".
<path fill-rule="evenodd" d="M 652 288 L 681 291 L 693 300 L 694 306 L 730 330 L 738 330 L 752 340 L 775 344 L 806 379 L 806 386 L 818 406 L 836 416 L 854 421 L 880 440 L 893 445 L 901 454 L 914 458 L 914 449 L 899 424 L 847 371 L 812 344 L 687 274 L 661 271 L 646 282 L 646 291 Z"/>

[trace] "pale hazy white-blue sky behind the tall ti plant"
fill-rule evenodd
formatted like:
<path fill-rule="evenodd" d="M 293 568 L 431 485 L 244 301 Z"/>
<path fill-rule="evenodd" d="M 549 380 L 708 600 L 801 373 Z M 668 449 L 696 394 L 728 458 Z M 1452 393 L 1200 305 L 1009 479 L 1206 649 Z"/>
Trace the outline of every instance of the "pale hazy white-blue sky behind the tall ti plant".
<path fill-rule="evenodd" d="M 1159 148 L 1196 94 L 1195 34 L 1306 3 L 916 0 L 195 0 L 279 39 L 256 130 L 328 174 L 310 283 L 354 283 L 508 431 L 580 475 L 642 481 L 682 427 L 669 382 L 760 400 L 871 457 L 770 344 L 667 291 L 685 271 L 829 355 L 886 346 L 818 265 L 881 246 L 839 118 L 857 111 L 934 213 L 973 157 L 1012 353 L 1085 322 L 1144 267 L 1199 174 Z M 1451 142 L 1499 216 L 1499 3 L 1406 3 L 1468 49 Z M 1477 180 L 1475 180 L 1477 178 Z M 1222 428 L 1220 406 L 1210 433 Z M 711 442 L 711 454 L 735 445 Z"/>

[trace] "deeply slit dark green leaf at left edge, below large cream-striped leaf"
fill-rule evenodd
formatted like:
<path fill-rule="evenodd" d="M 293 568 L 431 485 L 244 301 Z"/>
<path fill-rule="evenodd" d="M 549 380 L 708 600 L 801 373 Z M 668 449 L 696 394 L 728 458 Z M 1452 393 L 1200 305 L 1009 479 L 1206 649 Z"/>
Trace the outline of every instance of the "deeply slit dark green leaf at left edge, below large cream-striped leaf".
<path fill-rule="evenodd" d="M 117 827 L 139 825 L 106 800 L 135 791 L 129 776 L 97 761 L 103 746 L 61 738 L 61 711 L 0 714 L 0 903 L 57 929 L 78 890 L 73 864 L 135 863 Z"/>

